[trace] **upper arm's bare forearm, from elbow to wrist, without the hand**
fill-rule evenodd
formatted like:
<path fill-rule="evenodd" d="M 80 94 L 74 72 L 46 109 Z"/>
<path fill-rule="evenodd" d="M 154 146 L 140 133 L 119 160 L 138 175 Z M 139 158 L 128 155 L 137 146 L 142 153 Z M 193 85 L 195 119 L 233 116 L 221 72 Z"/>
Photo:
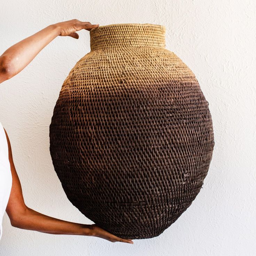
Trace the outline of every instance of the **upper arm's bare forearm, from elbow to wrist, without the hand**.
<path fill-rule="evenodd" d="M 49 25 L 8 48 L 0 56 L 1 69 L 8 73 L 8 79 L 22 71 L 60 33 L 58 25 Z"/>

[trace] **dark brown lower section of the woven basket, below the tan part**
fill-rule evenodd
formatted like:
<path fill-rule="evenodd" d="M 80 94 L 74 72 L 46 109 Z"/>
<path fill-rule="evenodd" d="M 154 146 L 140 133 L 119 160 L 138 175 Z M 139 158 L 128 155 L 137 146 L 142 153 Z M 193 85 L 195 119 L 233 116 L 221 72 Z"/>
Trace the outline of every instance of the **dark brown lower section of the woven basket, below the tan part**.
<path fill-rule="evenodd" d="M 191 205 L 213 147 L 208 102 L 194 80 L 72 89 L 60 95 L 50 125 L 69 200 L 129 239 L 161 234 Z"/>

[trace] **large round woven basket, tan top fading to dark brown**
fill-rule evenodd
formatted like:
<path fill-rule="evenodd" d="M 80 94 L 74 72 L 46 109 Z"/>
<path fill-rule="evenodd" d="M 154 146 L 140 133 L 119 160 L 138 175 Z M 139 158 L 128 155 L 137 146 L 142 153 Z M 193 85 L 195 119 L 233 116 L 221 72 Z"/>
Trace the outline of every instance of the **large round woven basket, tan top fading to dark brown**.
<path fill-rule="evenodd" d="M 208 102 L 165 49 L 164 26 L 99 26 L 90 47 L 54 109 L 54 168 L 67 198 L 94 223 L 122 238 L 152 238 L 191 205 L 207 175 Z"/>

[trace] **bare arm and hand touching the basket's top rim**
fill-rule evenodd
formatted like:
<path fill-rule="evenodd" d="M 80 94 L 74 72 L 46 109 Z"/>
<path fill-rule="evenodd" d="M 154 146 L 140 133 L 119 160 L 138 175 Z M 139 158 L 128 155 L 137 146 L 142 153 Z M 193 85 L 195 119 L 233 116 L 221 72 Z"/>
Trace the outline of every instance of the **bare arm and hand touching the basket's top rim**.
<path fill-rule="evenodd" d="M 79 35 L 76 31 L 82 29 L 91 30 L 98 26 L 99 24 L 92 25 L 90 22 L 81 22 L 77 19 L 72 19 L 49 25 L 16 43 L 0 56 L 0 83 L 21 72 L 58 35 L 68 35 L 78 39 Z"/>

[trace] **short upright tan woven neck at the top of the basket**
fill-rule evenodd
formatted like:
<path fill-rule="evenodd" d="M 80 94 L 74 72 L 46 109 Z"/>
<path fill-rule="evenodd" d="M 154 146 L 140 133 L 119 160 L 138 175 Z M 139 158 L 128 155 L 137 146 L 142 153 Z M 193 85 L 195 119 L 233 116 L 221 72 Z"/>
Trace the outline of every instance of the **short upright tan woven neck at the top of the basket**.
<path fill-rule="evenodd" d="M 165 48 L 165 26 L 154 24 L 111 24 L 90 31 L 91 50 L 110 47 Z"/>

